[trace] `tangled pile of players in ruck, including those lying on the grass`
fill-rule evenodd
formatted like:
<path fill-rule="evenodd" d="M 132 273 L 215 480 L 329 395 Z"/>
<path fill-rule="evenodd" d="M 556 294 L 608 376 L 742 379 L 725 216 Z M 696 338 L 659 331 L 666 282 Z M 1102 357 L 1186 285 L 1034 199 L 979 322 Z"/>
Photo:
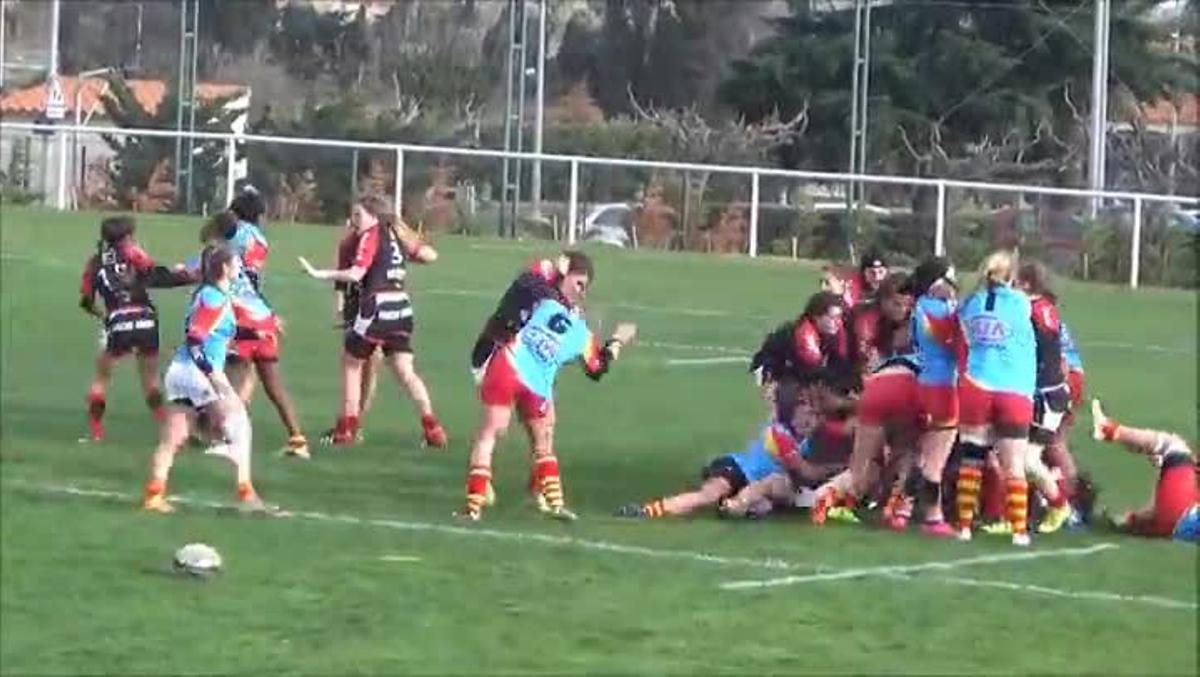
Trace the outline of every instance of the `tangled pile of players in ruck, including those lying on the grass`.
<path fill-rule="evenodd" d="M 998 251 L 962 294 L 937 257 L 890 272 L 878 252 L 828 266 L 800 316 L 770 332 L 751 371 L 769 420 L 746 449 L 719 456 L 698 489 L 623 507 L 654 519 L 716 507 L 726 516 L 810 508 L 817 525 L 872 508 L 893 531 L 917 520 L 935 538 L 977 527 L 1030 544 L 1037 531 L 1092 521 L 1096 489 L 1067 448 L 1084 366 L 1038 262 Z M 1093 436 L 1163 468 L 1154 499 L 1109 526 L 1195 540 L 1195 460 L 1174 435 L 1121 426 L 1093 401 Z M 983 498 L 983 520 L 979 502 Z"/>

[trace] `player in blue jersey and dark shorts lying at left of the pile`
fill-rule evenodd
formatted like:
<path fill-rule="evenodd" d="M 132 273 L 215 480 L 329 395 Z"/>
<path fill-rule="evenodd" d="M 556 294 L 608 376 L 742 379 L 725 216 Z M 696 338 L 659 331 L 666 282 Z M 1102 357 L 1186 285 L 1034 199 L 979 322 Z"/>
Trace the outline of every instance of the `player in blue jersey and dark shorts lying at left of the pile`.
<path fill-rule="evenodd" d="M 809 436 L 821 421 L 815 389 L 796 379 L 780 381 L 775 388 L 774 415 L 743 451 L 718 456 L 701 471 L 702 484 L 692 491 L 630 503 L 617 510 L 620 517 L 656 519 L 688 515 L 702 508 L 721 505 L 732 515 L 754 508 L 764 510 L 764 502 L 786 499 L 793 485 L 816 478 L 821 469 L 806 461 L 811 450 Z M 797 475 L 798 481 L 788 481 Z M 745 492 L 745 495 L 743 495 Z"/>

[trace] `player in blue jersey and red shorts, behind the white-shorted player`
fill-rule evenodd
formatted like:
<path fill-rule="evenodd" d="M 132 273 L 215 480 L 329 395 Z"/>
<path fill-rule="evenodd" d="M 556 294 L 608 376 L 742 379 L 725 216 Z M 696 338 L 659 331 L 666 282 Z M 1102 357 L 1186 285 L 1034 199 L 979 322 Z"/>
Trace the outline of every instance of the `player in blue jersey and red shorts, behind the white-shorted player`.
<path fill-rule="evenodd" d="M 246 192 L 234 199 L 233 206 L 239 211 L 230 209 L 216 215 L 204 233 L 209 244 L 228 244 L 240 263 L 239 272 L 229 287 L 238 334 L 232 343 L 233 352 L 226 371 L 234 390 L 247 407 L 254 395 L 256 381 L 263 382 L 266 397 L 275 405 L 288 433 L 283 453 L 308 459 L 308 439 L 300 429 L 295 405 L 280 369 L 283 322 L 262 294 L 268 247 L 266 239 L 254 224 L 263 211 L 262 198 L 257 193 Z"/>

